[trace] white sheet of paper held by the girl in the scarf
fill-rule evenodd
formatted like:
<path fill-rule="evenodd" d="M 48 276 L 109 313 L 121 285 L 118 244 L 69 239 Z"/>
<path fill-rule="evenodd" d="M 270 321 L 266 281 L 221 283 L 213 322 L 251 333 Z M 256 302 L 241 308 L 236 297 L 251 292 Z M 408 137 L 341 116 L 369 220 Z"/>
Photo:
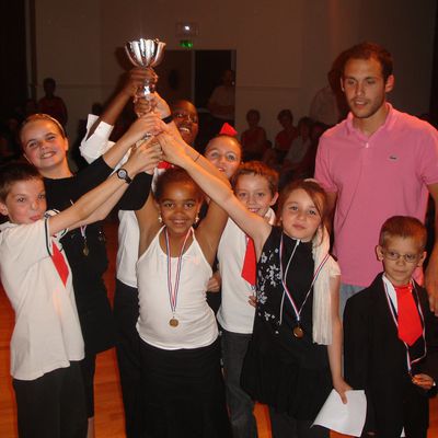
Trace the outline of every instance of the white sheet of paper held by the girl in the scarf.
<path fill-rule="evenodd" d="M 347 404 L 344 404 L 339 394 L 332 390 L 313 425 L 320 425 L 339 434 L 360 437 L 367 415 L 365 392 L 351 390 L 345 394 Z"/>

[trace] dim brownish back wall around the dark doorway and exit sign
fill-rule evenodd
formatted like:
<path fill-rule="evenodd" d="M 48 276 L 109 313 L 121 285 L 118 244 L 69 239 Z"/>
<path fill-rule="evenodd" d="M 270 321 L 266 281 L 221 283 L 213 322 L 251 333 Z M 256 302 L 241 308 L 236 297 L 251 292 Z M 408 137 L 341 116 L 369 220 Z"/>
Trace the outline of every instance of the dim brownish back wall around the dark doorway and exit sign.
<path fill-rule="evenodd" d="M 429 102 L 435 8 L 434 0 L 38 0 L 38 83 L 58 80 L 71 131 L 92 102 L 111 94 L 123 71 L 115 53 L 126 41 L 159 37 L 177 49 L 175 23 L 187 21 L 199 25 L 195 48 L 237 50 L 239 130 L 250 107 L 261 111 L 270 138 L 279 110 L 306 115 L 336 55 L 365 39 L 392 51 L 391 100 L 418 114 Z"/>

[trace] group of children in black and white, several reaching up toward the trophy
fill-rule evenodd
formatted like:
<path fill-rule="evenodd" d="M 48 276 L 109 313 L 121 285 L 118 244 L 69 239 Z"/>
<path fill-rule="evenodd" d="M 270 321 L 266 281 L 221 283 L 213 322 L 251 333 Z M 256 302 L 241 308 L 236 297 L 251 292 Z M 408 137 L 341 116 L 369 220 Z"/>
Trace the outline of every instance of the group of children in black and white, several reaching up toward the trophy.
<path fill-rule="evenodd" d="M 328 253 L 324 191 L 297 181 L 278 197 L 275 171 L 260 162 L 239 166 L 234 138 L 215 139 L 205 158 L 162 107 L 161 116 L 135 122 L 82 176 L 68 171 L 59 124 L 34 116 L 21 139 L 36 169 L 10 164 L 1 172 L 0 211 L 9 221 L 1 226 L 0 274 L 16 313 L 11 373 L 20 436 L 87 434 L 95 354 L 113 342 L 105 338 L 106 295 L 97 287 L 105 255 L 99 226 L 90 230 L 126 192 L 120 208 L 136 210 L 139 229 L 145 436 L 256 437 L 255 400 L 268 405 L 275 438 L 328 437 L 311 427 L 313 419 L 333 388 L 344 403 L 353 388 L 367 394 L 365 435 L 400 437 L 404 428 L 406 437 L 426 437 L 437 378 L 426 353 L 437 321 L 412 279 L 425 257 L 424 226 L 406 217 L 384 223 L 377 242 L 384 273 L 345 311 L 344 378 L 341 273 Z M 147 132 L 152 139 L 132 147 Z M 152 194 L 145 171 L 163 159 L 176 168 L 154 178 Z M 216 255 L 221 346 L 206 302 Z M 93 278 L 81 301 L 77 285 L 82 290 Z M 403 304 L 399 289 L 408 293 Z"/>

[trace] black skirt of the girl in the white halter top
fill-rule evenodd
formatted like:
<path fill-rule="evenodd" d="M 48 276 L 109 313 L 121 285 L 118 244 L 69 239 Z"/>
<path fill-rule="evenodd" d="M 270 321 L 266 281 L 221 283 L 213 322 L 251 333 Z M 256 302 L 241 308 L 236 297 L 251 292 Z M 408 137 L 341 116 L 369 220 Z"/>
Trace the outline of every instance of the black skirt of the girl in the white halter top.
<path fill-rule="evenodd" d="M 231 427 L 218 339 L 165 350 L 141 342 L 147 431 L 157 438 L 227 438 Z"/>

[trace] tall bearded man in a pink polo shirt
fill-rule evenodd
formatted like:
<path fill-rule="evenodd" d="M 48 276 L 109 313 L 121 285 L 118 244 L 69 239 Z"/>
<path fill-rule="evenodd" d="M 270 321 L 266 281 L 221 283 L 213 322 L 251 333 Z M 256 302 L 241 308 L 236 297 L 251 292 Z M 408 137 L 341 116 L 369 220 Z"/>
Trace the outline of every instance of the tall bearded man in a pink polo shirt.
<path fill-rule="evenodd" d="M 350 113 L 322 136 L 315 168 L 315 178 L 335 207 L 342 311 L 346 300 L 381 270 L 374 247 L 382 223 L 394 215 L 424 221 L 428 193 L 438 200 L 437 130 L 387 102 L 394 87 L 391 54 L 361 43 L 346 50 L 343 61 L 341 84 Z M 430 309 L 438 315 L 436 242 L 426 288 Z"/>

